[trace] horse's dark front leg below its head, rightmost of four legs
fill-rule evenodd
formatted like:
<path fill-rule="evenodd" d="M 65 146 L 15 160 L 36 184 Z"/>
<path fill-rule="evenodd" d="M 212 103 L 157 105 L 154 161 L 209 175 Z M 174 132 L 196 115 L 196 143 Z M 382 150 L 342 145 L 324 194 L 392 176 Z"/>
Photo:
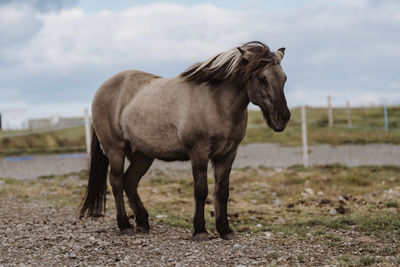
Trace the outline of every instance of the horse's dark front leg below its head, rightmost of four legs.
<path fill-rule="evenodd" d="M 235 233 L 229 227 L 227 211 L 229 198 L 229 174 L 235 156 L 236 149 L 223 158 L 213 160 L 215 175 L 215 224 L 221 238 L 226 240 L 235 238 Z"/>

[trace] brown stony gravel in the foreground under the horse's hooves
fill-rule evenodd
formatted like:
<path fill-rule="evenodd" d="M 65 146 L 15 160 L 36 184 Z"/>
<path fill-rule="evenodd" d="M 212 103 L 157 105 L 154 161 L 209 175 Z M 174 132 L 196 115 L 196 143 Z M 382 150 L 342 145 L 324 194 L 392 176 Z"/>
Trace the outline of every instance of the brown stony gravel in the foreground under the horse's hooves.
<path fill-rule="evenodd" d="M 332 266 L 343 253 L 357 256 L 390 245 L 353 230 L 335 231 L 343 241 L 334 246 L 312 235 L 269 232 L 232 241 L 211 233 L 212 240 L 195 243 L 190 230 L 154 221 L 150 233 L 127 237 L 110 217 L 78 220 L 73 208 L 13 198 L 0 198 L 0 206 L 2 266 Z M 384 266 L 394 266 L 389 258 Z"/>

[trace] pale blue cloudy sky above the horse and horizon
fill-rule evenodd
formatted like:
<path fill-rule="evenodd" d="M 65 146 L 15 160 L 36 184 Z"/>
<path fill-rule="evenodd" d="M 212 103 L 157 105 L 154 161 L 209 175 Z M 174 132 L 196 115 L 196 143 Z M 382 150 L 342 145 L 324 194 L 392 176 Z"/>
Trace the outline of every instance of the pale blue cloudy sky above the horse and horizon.
<path fill-rule="evenodd" d="M 174 77 L 259 40 L 290 107 L 400 104 L 400 1 L 0 0 L 0 103 L 77 116 L 112 75 Z"/>

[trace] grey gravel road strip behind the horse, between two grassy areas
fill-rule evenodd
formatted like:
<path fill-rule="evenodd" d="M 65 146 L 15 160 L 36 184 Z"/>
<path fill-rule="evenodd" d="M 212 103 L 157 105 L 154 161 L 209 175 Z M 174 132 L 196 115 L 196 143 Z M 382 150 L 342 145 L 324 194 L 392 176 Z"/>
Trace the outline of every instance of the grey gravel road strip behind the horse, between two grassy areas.
<path fill-rule="evenodd" d="M 318 145 L 309 147 L 310 165 L 340 163 L 347 166 L 400 164 L 400 145 Z M 0 159 L 0 177 L 34 179 L 44 175 L 61 175 L 87 168 L 84 154 L 35 155 L 31 160 L 19 157 Z M 282 147 L 275 144 L 240 146 L 234 168 L 289 167 L 302 164 L 300 147 Z M 152 169 L 188 170 L 189 162 L 155 161 Z"/>

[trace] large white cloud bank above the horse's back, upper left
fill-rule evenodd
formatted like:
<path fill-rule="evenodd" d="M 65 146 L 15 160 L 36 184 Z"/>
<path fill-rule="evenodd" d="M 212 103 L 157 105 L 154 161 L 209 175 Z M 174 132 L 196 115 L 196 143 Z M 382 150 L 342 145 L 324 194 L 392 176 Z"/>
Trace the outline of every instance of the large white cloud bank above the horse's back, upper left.
<path fill-rule="evenodd" d="M 36 38 L 11 53 L 36 70 L 200 60 L 248 40 L 235 13 L 167 3 L 94 14 L 67 9 L 40 15 L 44 26 Z"/>

